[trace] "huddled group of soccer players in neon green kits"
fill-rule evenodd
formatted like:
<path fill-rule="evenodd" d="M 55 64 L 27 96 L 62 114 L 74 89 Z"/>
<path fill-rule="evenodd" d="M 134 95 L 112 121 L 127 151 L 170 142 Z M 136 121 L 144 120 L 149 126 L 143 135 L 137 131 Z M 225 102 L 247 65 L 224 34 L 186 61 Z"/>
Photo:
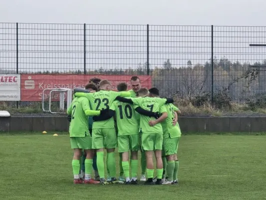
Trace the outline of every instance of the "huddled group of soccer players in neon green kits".
<path fill-rule="evenodd" d="M 130 82 L 130 90 L 126 82 L 120 82 L 118 91 L 112 91 L 110 81 L 92 78 L 85 89 L 74 89 L 67 113 L 75 184 L 138 184 L 138 150 L 141 151 L 140 181 L 147 185 L 178 184 L 180 110 L 172 104 L 172 98 L 160 98 L 157 88 L 142 88 L 138 76 L 132 76 Z M 118 179 L 116 147 L 120 155 Z"/>

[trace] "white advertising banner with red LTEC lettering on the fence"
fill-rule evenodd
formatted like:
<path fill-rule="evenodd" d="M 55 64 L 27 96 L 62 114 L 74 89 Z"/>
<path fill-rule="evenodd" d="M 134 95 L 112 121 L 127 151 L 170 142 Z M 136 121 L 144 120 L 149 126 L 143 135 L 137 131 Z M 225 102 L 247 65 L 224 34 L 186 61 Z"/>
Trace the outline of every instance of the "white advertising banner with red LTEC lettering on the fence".
<path fill-rule="evenodd" d="M 20 100 L 20 74 L 0 74 L 0 101 Z"/>

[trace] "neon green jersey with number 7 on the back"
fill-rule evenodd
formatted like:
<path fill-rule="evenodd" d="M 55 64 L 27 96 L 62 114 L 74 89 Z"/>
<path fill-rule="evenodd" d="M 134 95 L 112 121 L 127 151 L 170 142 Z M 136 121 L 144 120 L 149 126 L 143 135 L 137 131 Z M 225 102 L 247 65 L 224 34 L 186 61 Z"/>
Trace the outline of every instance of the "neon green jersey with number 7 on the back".
<path fill-rule="evenodd" d="M 146 96 L 146 97 L 132 98 L 132 101 L 134 103 L 134 108 L 140 106 L 141 108 L 152 112 L 159 112 L 161 106 L 165 104 L 166 99 Z M 150 126 L 149 125 L 150 120 L 155 120 L 155 118 L 140 114 L 140 132 L 163 134 L 163 128 L 161 123 L 157 123 L 154 126 Z"/>

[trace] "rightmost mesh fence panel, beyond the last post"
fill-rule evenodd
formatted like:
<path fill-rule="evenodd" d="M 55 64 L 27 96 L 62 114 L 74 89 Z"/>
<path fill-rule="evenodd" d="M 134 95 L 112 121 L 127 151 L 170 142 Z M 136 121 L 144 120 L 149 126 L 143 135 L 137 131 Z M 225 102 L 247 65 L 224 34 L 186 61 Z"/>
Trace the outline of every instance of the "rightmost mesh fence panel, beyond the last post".
<path fill-rule="evenodd" d="M 265 93 L 265 44 L 266 27 L 214 26 L 214 90 L 242 102 Z"/>

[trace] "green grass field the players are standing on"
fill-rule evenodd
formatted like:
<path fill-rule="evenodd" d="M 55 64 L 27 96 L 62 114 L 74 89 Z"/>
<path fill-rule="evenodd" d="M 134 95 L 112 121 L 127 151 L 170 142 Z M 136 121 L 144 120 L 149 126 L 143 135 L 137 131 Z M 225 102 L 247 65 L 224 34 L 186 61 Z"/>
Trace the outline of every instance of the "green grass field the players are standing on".
<path fill-rule="evenodd" d="M 266 135 L 184 135 L 179 146 L 179 185 L 74 185 L 67 135 L 0 135 L 0 199 L 266 199 Z"/>

